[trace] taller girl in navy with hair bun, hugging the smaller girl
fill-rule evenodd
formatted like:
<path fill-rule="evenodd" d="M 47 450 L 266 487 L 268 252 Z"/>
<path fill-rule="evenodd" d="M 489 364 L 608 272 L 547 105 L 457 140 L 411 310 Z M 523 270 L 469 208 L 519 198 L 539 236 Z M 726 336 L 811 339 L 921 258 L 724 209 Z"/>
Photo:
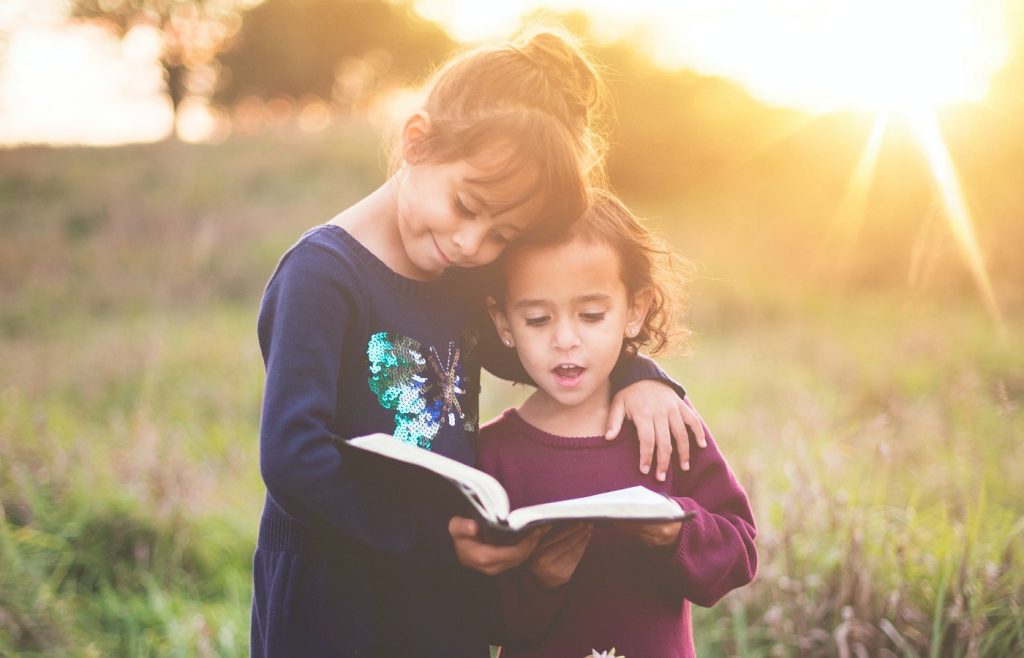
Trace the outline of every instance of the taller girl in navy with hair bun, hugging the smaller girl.
<path fill-rule="evenodd" d="M 478 331 L 489 324 L 480 270 L 467 268 L 583 212 L 600 169 L 598 87 L 582 52 L 552 33 L 456 57 L 404 123 L 395 173 L 282 258 L 258 323 L 267 493 L 254 656 L 488 655 L 480 574 L 521 563 L 539 535 L 484 544 L 473 521 L 438 516 L 443 492 L 376 480 L 332 440 L 386 432 L 476 460 L 481 360 L 523 376 L 492 327 Z M 660 428 L 663 442 L 672 426 L 685 452 L 682 422 L 699 424 L 664 374 L 633 360 L 620 374 L 632 384 L 625 412 Z M 653 434 L 638 459 L 649 462 Z"/>

